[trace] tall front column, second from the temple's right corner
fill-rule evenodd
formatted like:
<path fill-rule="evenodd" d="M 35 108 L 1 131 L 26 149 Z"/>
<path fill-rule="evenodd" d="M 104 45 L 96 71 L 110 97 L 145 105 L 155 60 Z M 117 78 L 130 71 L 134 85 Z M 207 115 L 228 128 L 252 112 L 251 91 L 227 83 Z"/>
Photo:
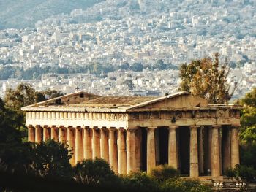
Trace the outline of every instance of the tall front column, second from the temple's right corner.
<path fill-rule="evenodd" d="M 219 128 L 221 126 L 212 126 L 211 131 L 211 176 L 220 176 L 220 151 L 219 151 Z"/>

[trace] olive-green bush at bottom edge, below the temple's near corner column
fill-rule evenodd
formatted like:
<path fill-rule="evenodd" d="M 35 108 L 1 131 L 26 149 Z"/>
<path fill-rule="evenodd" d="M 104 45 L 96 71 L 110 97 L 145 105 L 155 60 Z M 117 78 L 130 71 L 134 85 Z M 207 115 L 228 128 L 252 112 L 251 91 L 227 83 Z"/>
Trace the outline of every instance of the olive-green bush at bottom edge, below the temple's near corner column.
<path fill-rule="evenodd" d="M 127 176 L 121 177 L 124 188 L 130 191 L 160 191 L 159 183 L 145 172 L 133 172 Z"/>

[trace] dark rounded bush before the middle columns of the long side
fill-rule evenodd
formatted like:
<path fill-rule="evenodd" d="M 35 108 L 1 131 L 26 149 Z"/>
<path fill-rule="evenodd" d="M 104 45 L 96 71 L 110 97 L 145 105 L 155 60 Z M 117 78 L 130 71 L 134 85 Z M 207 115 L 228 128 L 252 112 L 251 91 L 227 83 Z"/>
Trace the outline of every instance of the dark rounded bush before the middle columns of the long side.
<path fill-rule="evenodd" d="M 100 158 L 87 159 L 74 167 L 75 180 L 78 183 L 92 185 L 111 185 L 118 182 L 118 177 L 109 164 Z"/>

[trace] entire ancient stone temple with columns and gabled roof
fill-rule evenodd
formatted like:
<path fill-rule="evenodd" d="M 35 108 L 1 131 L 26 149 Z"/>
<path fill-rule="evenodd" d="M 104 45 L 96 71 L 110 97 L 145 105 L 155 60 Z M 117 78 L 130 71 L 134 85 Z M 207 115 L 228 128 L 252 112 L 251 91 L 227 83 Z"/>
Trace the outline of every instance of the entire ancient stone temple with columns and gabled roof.
<path fill-rule="evenodd" d="M 239 164 L 236 105 L 178 92 L 162 97 L 78 92 L 28 107 L 29 141 L 73 149 L 71 164 L 104 158 L 119 174 L 169 164 L 181 175 L 219 177 Z"/>

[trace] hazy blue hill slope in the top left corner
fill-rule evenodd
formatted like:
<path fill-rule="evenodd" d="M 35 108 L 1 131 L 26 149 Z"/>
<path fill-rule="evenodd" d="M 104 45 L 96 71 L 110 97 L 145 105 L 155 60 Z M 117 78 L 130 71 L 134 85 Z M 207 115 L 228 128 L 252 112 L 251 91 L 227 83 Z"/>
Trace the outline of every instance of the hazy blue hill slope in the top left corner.
<path fill-rule="evenodd" d="M 86 9 L 103 0 L 0 0 L 0 29 L 34 27 L 38 20 Z"/>

